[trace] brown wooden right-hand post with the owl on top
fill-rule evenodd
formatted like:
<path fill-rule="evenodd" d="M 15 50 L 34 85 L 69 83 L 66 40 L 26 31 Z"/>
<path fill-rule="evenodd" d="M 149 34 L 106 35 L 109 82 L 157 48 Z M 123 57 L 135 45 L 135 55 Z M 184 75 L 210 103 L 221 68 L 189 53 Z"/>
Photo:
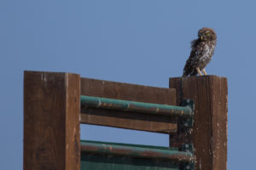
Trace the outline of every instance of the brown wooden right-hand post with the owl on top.
<path fill-rule="evenodd" d="M 227 79 L 217 76 L 170 78 L 176 88 L 177 104 L 181 99 L 195 100 L 192 142 L 195 147 L 195 169 L 226 170 L 227 161 Z M 183 139 L 172 136 L 170 142 Z M 177 142 L 178 143 L 178 142 Z"/>

